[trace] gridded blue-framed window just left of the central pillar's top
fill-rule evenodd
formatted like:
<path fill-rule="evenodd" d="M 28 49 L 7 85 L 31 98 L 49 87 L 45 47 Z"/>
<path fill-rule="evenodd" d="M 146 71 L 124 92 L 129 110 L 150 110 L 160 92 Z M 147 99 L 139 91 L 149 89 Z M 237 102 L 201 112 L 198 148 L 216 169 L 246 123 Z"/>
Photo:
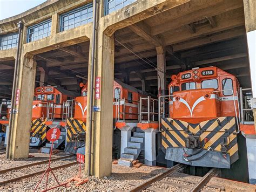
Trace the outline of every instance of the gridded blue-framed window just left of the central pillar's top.
<path fill-rule="evenodd" d="M 92 11 L 91 12 L 88 12 L 88 9 L 89 8 L 91 8 L 92 9 Z M 84 16 L 84 15 L 82 15 L 82 11 L 84 10 L 84 9 L 86 9 L 86 11 L 87 11 L 87 13 L 85 13 L 84 15 L 86 15 L 86 21 L 87 21 L 87 23 L 85 23 L 85 24 L 82 24 L 82 22 L 84 22 L 85 20 L 82 20 L 82 16 Z M 76 16 L 75 16 L 75 14 L 78 12 L 78 11 L 80 11 L 80 15 L 78 16 L 80 19 L 80 21 L 79 21 L 79 23 L 80 23 L 80 25 L 77 25 L 76 26 L 76 22 L 75 22 L 75 18 L 77 18 Z M 89 13 L 91 13 L 91 17 L 88 17 L 89 16 Z M 74 17 L 73 18 L 71 18 L 71 19 L 73 19 L 74 20 L 74 22 L 73 22 L 73 24 L 69 24 L 69 18 L 68 18 L 68 20 L 64 20 L 64 17 L 66 17 L 66 16 L 68 16 L 69 17 L 69 15 L 72 15 L 72 14 L 74 14 Z M 91 19 L 91 21 L 89 22 L 89 20 Z M 88 4 L 86 4 L 86 5 L 84 5 L 84 6 L 80 6 L 79 8 L 77 8 L 77 9 L 73 9 L 73 10 L 71 10 L 71 11 L 69 11 L 69 12 L 65 12 L 65 13 L 63 13 L 62 15 L 60 15 L 60 17 L 59 17 L 59 22 L 60 22 L 60 25 L 59 25 L 59 32 L 63 32 L 63 31 L 66 31 L 66 30 L 69 30 L 69 29 L 74 29 L 74 28 L 76 28 L 76 27 L 78 27 L 78 26 L 82 26 L 82 25 L 86 25 L 86 24 L 88 24 L 88 23 L 91 23 L 93 21 L 93 3 L 88 3 Z M 63 26 L 63 23 L 64 22 L 68 22 L 68 25 L 67 26 Z M 78 23 L 78 22 L 77 22 Z M 74 27 L 73 28 L 69 28 L 69 26 L 70 25 L 74 25 Z M 64 29 L 65 27 L 68 27 L 68 29 Z"/>

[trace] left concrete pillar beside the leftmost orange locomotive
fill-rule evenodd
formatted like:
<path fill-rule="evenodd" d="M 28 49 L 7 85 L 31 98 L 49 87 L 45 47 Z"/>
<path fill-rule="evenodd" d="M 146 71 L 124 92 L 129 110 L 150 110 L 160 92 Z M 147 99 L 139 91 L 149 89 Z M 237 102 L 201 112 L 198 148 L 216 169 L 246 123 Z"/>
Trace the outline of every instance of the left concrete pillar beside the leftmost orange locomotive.
<path fill-rule="evenodd" d="M 32 102 L 36 78 L 35 56 L 21 57 L 15 97 L 15 114 L 12 120 L 9 159 L 26 158 L 29 155 L 29 141 L 32 118 Z"/>

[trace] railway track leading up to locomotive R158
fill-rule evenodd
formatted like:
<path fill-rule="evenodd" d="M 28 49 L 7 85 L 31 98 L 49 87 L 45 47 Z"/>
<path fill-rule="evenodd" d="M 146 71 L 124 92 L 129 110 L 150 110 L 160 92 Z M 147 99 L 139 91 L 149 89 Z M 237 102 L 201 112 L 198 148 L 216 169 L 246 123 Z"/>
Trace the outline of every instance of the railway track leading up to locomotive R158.
<path fill-rule="evenodd" d="M 219 189 L 219 190 L 225 190 L 224 187 L 221 186 L 215 186 L 212 184 L 208 184 L 208 181 L 214 176 L 217 176 L 219 174 L 218 169 L 211 169 L 204 177 L 201 177 L 199 181 L 196 180 L 185 180 L 180 179 L 176 177 L 171 177 L 173 174 L 176 174 L 177 172 L 184 169 L 186 166 L 184 164 L 177 164 L 176 166 L 173 166 L 165 172 L 160 173 L 158 175 L 155 175 L 151 177 L 150 179 L 147 179 L 143 183 L 129 183 L 131 186 L 133 186 L 132 189 L 129 191 L 142 191 L 142 190 L 150 190 L 150 191 L 165 191 L 169 187 L 176 187 L 180 188 L 179 190 L 187 190 L 187 191 L 200 191 L 205 186 L 208 188 L 212 188 L 213 190 Z M 164 186 L 165 188 L 160 188 L 157 186 Z"/>

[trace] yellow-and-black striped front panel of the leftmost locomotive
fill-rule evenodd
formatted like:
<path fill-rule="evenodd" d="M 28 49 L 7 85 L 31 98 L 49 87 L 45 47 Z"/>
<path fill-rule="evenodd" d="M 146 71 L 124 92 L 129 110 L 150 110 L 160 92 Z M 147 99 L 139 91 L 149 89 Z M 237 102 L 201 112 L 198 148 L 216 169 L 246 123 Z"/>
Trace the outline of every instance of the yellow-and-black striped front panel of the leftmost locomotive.
<path fill-rule="evenodd" d="M 41 119 L 35 119 L 31 122 L 30 136 L 40 138 L 41 143 L 46 140 L 47 126 L 45 125 L 45 122 L 46 119 L 44 121 Z"/>

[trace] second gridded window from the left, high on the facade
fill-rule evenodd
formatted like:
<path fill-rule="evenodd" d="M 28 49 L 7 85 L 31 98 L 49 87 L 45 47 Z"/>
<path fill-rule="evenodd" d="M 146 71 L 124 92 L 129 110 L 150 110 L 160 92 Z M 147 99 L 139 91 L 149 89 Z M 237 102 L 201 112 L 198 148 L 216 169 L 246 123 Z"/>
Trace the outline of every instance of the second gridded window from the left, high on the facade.
<path fill-rule="evenodd" d="M 27 42 L 33 42 L 38 39 L 42 39 L 51 35 L 51 19 L 45 20 L 36 25 L 32 25 L 28 28 L 28 40 Z"/>

